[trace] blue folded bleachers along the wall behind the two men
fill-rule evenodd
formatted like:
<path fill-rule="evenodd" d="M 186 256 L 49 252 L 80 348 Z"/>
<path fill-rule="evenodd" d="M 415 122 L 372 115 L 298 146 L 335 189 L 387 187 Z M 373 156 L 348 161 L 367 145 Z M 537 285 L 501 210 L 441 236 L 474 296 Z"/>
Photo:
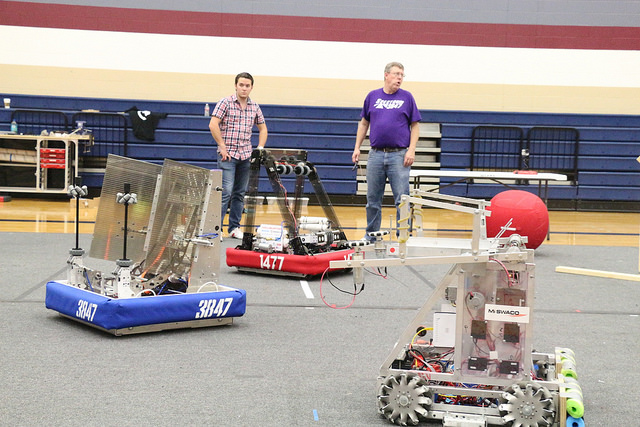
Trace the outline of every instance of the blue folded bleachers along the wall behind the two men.
<path fill-rule="evenodd" d="M 206 168 L 216 167 L 216 145 L 209 132 L 209 117 L 203 102 L 155 101 L 139 99 L 94 99 L 7 94 L 10 109 L 0 109 L 0 130 L 9 130 L 15 110 L 51 110 L 71 120 L 74 113 L 97 110 L 122 113 L 137 106 L 167 113 L 156 129 L 152 143 L 138 140 L 127 129 L 127 155 L 139 160 L 161 163 L 164 158 L 184 161 Z M 211 110 L 215 106 L 210 102 Z M 357 191 L 356 171 L 351 153 L 355 141 L 360 108 L 262 105 L 269 128 L 268 147 L 299 148 L 308 151 L 326 187 L 327 193 L 353 196 Z M 478 112 L 422 110 L 426 122 L 441 124 L 440 167 L 466 169 L 471 162 L 471 136 L 477 126 L 519 127 L 525 135 L 534 127 L 571 127 L 580 135 L 577 186 L 551 184 L 550 200 L 640 201 L 640 117 L 609 114 L 551 114 L 518 112 Z M 71 121 L 70 126 L 75 124 Z M 257 142 L 257 135 L 254 134 Z M 541 166 L 542 169 L 545 169 Z M 100 186 L 99 168 L 85 168 L 84 182 Z M 489 183 L 456 184 L 443 192 L 489 199 L 504 187 Z M 269 192 L 266 177 L 260 191 Z M 311 188 L 305 192 L 312 193 Z"/>

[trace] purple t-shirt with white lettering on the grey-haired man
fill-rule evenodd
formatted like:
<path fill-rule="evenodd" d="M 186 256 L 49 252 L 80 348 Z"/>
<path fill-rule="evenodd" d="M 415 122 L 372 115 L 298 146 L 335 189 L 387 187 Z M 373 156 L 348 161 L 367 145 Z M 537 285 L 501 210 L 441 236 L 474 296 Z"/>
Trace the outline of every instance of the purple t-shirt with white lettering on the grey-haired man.
<path fill-rule="evenodd" d="M 386 94 L 382 88 L 369 92 L 360 117 L 369 122 L 369 140 L 374 148 L 408 147 L 409 125 L 422 120 L 411 92 L 398 89 Z"/>

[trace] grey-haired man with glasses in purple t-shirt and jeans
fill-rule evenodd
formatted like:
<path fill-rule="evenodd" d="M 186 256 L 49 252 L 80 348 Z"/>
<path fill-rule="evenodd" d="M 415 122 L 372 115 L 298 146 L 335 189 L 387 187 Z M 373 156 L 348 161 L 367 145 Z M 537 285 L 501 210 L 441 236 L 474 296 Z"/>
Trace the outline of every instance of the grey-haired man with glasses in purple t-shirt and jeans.
<path fill-rule="evenodd" d="M 409 171 L 416 157 L 416 144 L 422 120 L 416 101 L 410 92 L 400 89 L 404 66 L 390 62 L 384 69 L 384 86 L 369 92 L 364 100 L 358 123 L 352 160 L 360 160 L 360 146 L 370 130 L 371 150 L 367 159 L 367 229 L 365 238 L 373 240 L 371 232 L 380 230 L 382 198 L 386 180 L 393 193 L 396 208 L 403 194 L 409 194 Z M 396 220 L 398 219 L 396 214 Z"/>

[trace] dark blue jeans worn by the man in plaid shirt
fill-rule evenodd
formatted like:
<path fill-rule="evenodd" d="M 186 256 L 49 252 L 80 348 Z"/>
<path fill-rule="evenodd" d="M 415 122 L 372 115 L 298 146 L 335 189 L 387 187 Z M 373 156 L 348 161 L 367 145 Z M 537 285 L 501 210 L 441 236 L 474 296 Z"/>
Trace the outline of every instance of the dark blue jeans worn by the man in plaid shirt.
<path fill-rule="evenodd" d="M 244 194 L 249 185 L 251 160 L 231 158 L 222 161 L 218 155 L 218 169 L 222 170 L 222 213 L 220 214 L 220 229 L 224 224 L 224 217 L 229 209 L 229 232 L 240 227 L 242 211 L 244 210 Z"/>

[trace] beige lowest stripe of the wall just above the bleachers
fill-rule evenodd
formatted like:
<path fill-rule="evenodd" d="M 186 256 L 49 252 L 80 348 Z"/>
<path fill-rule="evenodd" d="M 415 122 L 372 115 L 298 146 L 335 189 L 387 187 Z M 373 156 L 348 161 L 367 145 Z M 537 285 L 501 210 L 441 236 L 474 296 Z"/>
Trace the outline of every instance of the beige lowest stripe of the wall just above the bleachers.
<path fill-rule="evenodd" d="M 0 93 L 216 102 L 235 74 L 187 74 L 0 65 Z M 261 104 L 360 107 L 379 81 L 256 78 Z M 640 114 L 640 88 L 421 83 L 407 81 L 421 109 Z"/>

